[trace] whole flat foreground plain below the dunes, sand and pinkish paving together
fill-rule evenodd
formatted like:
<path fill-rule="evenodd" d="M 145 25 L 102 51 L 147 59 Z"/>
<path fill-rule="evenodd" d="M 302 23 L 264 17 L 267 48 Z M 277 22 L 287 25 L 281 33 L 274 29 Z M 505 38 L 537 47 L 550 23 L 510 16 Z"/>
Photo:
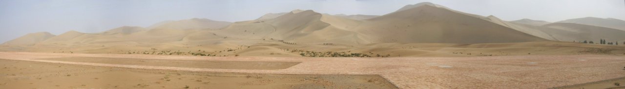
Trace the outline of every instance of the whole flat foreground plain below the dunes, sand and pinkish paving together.
<path fill-rule="evenodd" d="M 611 88 L 625 77 L 625 57 L 615 55 L 327 58 L 0 52 L 0 63 L 0 88 Z M 610 79 L 611 86 L 600 85 Z M 581 83 L 586 84 L 577 85 Z"/>

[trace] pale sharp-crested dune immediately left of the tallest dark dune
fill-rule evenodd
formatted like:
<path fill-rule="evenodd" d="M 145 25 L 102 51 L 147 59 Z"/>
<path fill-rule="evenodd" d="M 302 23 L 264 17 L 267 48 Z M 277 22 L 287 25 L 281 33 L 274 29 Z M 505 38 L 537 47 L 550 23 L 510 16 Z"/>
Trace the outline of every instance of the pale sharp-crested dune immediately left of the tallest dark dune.
<path fill-rule="evenodd" d="M 361 21 L 319 14 L 311 10 L 289 12 L 275 19 L 235 22 L 217 35 L 241 39 L 274 39 L 299 44 L 360 44 L 351 29 Z"/>

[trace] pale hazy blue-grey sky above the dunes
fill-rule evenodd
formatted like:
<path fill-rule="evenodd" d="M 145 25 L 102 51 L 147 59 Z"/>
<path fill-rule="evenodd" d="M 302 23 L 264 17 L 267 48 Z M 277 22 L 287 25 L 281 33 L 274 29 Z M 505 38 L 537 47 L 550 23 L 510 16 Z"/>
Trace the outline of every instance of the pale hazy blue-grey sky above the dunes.
<path fill-rule="evenodd" d="M 625 0 L 0 0 L 0 43 L 32 32 L 94 33 L 194 17 L 236 22 L 293 9 L 383 15 L 419 2 L 433 2 L 481 16 L 493 15 L 506 21 L 625 19 Z"/>

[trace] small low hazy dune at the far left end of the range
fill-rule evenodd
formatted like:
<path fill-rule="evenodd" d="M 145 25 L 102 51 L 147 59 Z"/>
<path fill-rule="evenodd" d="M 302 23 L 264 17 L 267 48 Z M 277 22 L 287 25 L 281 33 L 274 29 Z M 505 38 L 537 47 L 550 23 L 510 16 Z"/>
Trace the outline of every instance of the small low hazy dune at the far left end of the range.
<path fill-rule="evenodd" d="M 9 40 L 4 44 L 8 45 L 33 45 L 44 40 L 47 40 L 56 35 L 50 34 L 49 32 L 36 32 L 31 34 L 23 35 L 22 37 L 18 37 L 17 39 Z"/>

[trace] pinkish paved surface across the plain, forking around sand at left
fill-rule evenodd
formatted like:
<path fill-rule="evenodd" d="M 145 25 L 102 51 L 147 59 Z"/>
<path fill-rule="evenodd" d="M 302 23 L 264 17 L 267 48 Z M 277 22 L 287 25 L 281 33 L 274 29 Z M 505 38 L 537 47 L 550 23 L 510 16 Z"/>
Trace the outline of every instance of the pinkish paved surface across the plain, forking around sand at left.
<path fill-rule="evenodd" d="M 167 60 L 301 62 L 279 70 L 160 67 L 35 60 L 116 57 Z M 614 55 L 511 55 L 492 57 L 311 58 L 197 57 L 178 55 L 0 52 L 0 59 L 104 67 L 306 75 L 381 75 L 399 88 L 553 88 L 625 77 L 625 57 Z"/>

